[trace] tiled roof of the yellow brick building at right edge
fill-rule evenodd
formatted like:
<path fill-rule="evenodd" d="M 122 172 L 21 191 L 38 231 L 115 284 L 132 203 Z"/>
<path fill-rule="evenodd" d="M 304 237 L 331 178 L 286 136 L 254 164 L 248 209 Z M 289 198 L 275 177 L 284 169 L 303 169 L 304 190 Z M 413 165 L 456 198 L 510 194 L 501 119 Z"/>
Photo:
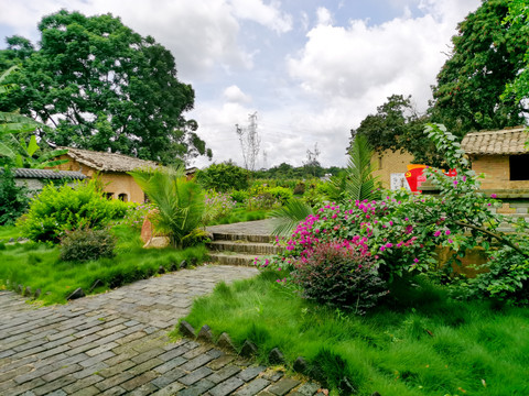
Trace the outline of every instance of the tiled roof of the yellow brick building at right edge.
<path fill-rule="evenodd" d="M 525 127 L 500 131 L 471 132 L 463 138 L 462 148 L 469 155 L 529 154 L 525 147 L 529 133 Z"/>

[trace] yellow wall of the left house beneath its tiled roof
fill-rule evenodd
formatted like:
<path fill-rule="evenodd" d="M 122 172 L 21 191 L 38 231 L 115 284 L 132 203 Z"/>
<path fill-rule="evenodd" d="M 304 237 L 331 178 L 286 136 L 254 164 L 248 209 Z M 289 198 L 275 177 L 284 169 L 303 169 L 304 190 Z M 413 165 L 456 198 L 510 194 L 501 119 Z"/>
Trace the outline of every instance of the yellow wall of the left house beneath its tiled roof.
<path fill-rule="evenodd" d="M 80 164 L 67 155 L 62 155 L 60 158 L 69 161 L 67 164 L 58 165 L 61 170 L 76 170 L 88 177 L 94 177 L 97 173 L 93 167 Z M 143 190 L 138 186 L 132 176 L 125 172 L 100 172 L 99 179 L 105 186 L 105 193 L 112 194 L 114 199 L 118 199 L 120 194 L 126 194 L 127 201 L 143 204 Z"/>

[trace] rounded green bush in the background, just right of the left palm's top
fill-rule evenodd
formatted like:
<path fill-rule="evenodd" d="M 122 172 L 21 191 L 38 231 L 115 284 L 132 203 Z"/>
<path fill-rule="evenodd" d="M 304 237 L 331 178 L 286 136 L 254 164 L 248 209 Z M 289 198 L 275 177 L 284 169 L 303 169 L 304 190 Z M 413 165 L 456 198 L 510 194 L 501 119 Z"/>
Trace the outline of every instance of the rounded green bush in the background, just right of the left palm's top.
<path fill-rule="evenodd" d="M 196 175 L 197 182 L 206 189 L 217 191 L 241 190 L 248 188 L 249 174 L 246 169 L 226 162 L 209 165 L 206 169 L 199 170 Z"/>

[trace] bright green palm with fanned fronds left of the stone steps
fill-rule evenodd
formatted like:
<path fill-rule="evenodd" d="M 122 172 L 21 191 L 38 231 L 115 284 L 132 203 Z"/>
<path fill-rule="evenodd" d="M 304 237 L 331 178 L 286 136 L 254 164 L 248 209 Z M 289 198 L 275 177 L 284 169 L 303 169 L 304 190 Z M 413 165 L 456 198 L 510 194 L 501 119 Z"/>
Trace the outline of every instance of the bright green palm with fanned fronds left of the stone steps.
<path fill-rule="evenodd" d="M 174 248 L 182 249 L 204 213 L 202 187 L 187 180 L 182 167 L 137 169 L 129 174 L 156 206 L 154 227 L 169 235 Z"/>

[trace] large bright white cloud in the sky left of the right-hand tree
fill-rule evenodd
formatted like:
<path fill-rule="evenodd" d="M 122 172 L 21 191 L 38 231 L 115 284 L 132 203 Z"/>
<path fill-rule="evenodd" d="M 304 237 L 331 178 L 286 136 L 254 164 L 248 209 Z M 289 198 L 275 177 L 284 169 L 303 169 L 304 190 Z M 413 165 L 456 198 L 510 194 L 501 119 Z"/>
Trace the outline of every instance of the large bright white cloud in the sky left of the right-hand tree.
<path fill-rule="evenodd" d="M 320 142 L 323 163 L 345 163 L 349 129 L 390 95 L 411 94 L 419 110 L 425 110 L 454 29 L 478 4 L 423 0 L 424 14 L 419 18 L 404 12 L 403 18 L 371 26 L 360 20 L 347 26 L 319 23 L 307 32 L 304 47 L 287 64 L 300 95 L 312 99 L 301 124 Z M 319 10 L 317 19 L 325 22 L 325 12 Z"/>

